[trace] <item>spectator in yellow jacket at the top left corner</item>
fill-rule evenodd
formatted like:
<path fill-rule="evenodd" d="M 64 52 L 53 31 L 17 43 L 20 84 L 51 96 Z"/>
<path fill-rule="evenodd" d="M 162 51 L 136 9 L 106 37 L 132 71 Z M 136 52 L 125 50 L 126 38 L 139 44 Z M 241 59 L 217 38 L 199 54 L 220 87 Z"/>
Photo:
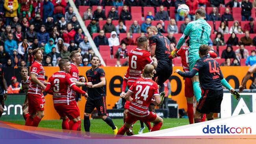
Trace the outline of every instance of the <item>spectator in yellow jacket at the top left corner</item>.
<path fill-rule="evenodd" d="M 10 24 L 13 17 L 17 17 L 18 7 L 18 0 L 4 0 L 4 8 L 6 9 L 6 25 Z"/>

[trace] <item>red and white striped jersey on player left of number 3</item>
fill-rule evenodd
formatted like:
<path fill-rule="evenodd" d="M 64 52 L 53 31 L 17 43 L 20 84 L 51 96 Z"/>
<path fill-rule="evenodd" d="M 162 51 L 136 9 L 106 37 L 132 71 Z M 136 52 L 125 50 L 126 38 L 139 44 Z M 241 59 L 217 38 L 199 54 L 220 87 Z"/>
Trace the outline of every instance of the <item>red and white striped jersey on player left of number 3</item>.
<path fill-rule="evenodd" d="M 43 84 L 45 83 L 45 69 L 43 68 L 42 64 L 39 63 L 38 61 L 35 61 L 32 64 L 32 66 L 30 68 L 30 75 L 32 73 L 36 74 L 37 79 L 41 83 L 43 83 Z M 31 81 L 30 87 L 28 88 L 28 93 L 41 95 L 42 92 L 43 92 L 43 87 L 41 87 L 40 85 L 37 85 L 36 83 Z"/>

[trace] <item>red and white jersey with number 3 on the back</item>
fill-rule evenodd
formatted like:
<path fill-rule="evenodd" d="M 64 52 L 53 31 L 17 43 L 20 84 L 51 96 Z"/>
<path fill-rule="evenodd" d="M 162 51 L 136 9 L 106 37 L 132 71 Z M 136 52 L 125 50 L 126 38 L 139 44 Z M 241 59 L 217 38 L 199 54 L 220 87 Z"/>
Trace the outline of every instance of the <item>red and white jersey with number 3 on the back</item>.
<path fill-rule="evenodd" d="M 55 72 L 49 78 L 47 85 L 50 85 L 52 89 L 54 106 L 69 105 L 71 102 L 70 87 L 75 85 L 70 74 L 67 74 L 63 71 Z"/>

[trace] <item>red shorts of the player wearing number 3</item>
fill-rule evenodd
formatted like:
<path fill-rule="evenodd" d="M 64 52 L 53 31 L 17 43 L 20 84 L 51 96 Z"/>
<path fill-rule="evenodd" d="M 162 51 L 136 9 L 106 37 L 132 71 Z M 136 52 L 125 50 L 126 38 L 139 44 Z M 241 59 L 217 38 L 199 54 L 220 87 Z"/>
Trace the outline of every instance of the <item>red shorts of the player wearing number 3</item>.
<path fill-rule="evenodd" d="M 59 116 L 67 116 L 69 120 L 73 120 L 74 118 L 80 116 L 79 110 L 77 109 L 76 105 L 74 105 L 74 103 L 70 103 L 69 105 L 54 106 L 54 109 L 57 111 Z"/>

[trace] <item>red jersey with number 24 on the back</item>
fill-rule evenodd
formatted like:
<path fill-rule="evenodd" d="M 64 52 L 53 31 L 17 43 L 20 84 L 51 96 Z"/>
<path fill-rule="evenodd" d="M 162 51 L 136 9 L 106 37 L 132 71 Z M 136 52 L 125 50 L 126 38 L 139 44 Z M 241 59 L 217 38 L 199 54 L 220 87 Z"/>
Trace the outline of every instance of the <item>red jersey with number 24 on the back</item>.
<path fill-rule="evenodd" d="M 148 116 L 148 106 L 154 96 L 159 96 L 158 85 L 152 79 L 140 78 L 129 89 L 133 93 L 129 113 L 134 116 Z"/>

